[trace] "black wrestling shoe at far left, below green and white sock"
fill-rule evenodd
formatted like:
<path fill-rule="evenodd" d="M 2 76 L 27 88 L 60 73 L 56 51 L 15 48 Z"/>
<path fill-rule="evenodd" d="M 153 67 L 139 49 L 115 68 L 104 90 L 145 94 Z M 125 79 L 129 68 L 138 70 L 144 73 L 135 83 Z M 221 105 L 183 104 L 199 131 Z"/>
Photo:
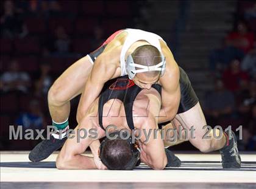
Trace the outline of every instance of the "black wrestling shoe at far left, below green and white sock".
<path fill-rule="evenodd" d="M 29 160 L 32 162 L 40 162 L 41 160 L 49 157 L 55 150 L 61 148 L 66 141 L 66 137 L 63 139 L 55 139 L 50 136 L 49 140 L 43 140 L 38 143 L 32 151 L 29 153 Z"/>

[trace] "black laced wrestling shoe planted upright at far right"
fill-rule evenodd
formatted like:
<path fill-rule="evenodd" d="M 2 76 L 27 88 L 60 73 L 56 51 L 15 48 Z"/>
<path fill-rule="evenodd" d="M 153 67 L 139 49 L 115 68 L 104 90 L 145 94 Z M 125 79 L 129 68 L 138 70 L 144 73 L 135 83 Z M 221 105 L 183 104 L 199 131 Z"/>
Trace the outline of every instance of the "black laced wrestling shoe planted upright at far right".
<path fill-rule="evenodd" d="M 221 153 L 222 167 L 223 168 L 240 168 L 241 157 L 238 152 L 235 133 L 231 132 L 231 138 L 228 140 L 227 145 L 219 150 Z"/>

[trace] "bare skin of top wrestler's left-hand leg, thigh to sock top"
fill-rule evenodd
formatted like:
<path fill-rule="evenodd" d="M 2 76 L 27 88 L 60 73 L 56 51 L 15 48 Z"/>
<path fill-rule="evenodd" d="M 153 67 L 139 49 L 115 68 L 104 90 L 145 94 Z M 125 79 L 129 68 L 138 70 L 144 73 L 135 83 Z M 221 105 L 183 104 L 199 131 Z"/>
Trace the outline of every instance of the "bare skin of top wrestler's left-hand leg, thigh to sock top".
<path fill-rule="evenodd" d="M 93 64 L 83 57 L 60 75 L 48 92 L 48 105 L 52 120 L 64 122 L 70 111 L 70 100 L 82 92 Z"/>

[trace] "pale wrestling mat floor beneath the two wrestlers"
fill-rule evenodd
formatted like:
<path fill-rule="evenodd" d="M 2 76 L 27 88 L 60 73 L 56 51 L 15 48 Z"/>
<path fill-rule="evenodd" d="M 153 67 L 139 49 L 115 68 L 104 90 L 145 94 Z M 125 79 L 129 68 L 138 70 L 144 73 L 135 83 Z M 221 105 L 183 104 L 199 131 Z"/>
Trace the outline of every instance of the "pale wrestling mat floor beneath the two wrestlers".
<path fill-rule="evenodd" d="M 57 170 L 52 154 L 39 163 L 28 152 L 1 152 L 3 188 L 256 188 L 256 154 L 241 154 L 241 169 L 225 170 L 219 154 L 177 154 L 180 168 L 133 171 Z"/>

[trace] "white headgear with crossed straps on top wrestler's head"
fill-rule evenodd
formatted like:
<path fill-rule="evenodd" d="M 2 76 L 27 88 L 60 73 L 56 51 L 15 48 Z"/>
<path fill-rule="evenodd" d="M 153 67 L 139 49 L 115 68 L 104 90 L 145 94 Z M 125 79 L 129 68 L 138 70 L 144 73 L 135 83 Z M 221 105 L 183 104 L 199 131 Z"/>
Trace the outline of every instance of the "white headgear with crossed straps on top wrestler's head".
<path fill-rule="evenodd" d="M 141 69 L 136 69 L 136 67 Z M 161 71 L 160 77 L 162 77 L 163 74 L 165 73 L 165 67 L 166 67 L 166 61 L 162 53 L 161 53 L 161 62 L 154 66 L 144 66 L 141 64 L 135 64 L 132 58 L 132 54 L 128 55 L 126 60 L 126 72 L 130 80 L 132 80 L 137 73 L 151 72 L 151 71 Z"/>

